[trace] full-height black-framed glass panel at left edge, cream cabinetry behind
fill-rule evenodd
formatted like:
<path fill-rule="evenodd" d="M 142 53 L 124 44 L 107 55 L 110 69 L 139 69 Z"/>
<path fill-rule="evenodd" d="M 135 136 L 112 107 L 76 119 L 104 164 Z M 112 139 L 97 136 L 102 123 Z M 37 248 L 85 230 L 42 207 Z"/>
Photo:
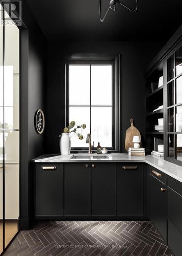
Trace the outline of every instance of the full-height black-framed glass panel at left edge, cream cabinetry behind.
<path fill-rule="evenodd" d="M 1 20 L 4 13 L 0 9 Z M 0 24 L 0 254 L 19 226 L 19 29 Z"/>

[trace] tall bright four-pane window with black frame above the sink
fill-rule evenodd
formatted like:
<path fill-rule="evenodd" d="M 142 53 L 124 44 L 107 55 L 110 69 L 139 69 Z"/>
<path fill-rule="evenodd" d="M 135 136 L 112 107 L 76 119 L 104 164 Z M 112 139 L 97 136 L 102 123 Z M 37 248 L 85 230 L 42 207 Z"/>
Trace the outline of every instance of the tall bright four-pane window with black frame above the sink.
<path fill-rule="evenodd" d="M 85 123 L 86 129 L 78 129 L 83 140 L 71 133 L 71 147 L 86 148 L 86 136 L 91 134 L 94 146 L 114 148 L 114 65 L 109 61 L 68 63 L 67 66 L 67 121 L 76 125 Z"/>

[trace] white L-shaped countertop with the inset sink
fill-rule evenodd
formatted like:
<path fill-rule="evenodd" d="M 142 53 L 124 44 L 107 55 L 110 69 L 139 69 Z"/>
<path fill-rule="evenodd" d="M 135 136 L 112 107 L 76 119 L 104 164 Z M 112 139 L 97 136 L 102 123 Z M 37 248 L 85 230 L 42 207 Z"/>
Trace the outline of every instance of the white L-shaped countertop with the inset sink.
<path fill-rule="evenodd" d="M 163 173 L 172 178 L 182 182 L 182 166 L 168 162 L 163 158 L 149 155 L 149 156 L 129 156 L 127 153 L 111 153 L 107 156 L 108 159 L 70 159 L 72 155 L 86 155 L 86 154 L 70 154 L 62 155 L 43 155 L 33 159 L 35 163 L 76 163 L 76 162 L 142 162 L 150 164 L 151 166 L 161 170 Z M 96 154 L 93 154 L 96 155 Z"/>

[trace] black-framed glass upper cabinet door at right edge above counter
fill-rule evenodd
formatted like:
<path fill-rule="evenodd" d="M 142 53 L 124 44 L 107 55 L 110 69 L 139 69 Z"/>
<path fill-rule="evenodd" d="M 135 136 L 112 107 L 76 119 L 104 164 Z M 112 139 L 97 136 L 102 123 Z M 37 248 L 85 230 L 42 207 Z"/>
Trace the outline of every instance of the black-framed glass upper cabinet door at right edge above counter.
<path fill-rule="evenodd" d="M 182 161 L 182 46 L 167 58 L 167 157 Z"/>

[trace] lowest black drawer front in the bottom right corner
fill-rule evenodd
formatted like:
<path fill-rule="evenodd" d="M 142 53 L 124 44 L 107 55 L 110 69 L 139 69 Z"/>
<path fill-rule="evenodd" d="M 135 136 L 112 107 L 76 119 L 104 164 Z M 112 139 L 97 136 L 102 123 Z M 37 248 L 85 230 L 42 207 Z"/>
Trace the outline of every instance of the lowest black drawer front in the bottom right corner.
<path fill-rule="evenodd" d="M 168 245 L 175 254 L 175 256 L 181 256 L 181 241 L 182 233 L 173 225 L 170 220 L 168 220 Z"/>

